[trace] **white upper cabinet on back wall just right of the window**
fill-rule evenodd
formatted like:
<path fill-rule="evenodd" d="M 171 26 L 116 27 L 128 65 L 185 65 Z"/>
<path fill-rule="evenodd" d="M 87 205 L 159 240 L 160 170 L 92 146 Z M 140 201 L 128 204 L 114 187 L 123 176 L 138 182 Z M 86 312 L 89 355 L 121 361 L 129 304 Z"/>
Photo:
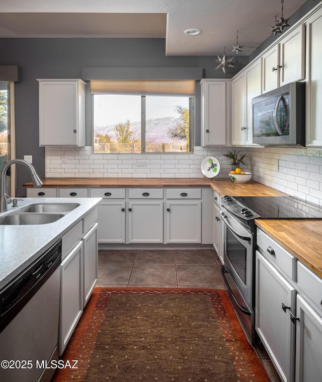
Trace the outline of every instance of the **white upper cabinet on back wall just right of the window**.
<path fill-rule="evenodd" d="M 203 79 L 201 85 L 201 145 L 226 145 L 226 87 L 230 82 Z M 230 144 L 230 143 L 228 143 Z"/>

